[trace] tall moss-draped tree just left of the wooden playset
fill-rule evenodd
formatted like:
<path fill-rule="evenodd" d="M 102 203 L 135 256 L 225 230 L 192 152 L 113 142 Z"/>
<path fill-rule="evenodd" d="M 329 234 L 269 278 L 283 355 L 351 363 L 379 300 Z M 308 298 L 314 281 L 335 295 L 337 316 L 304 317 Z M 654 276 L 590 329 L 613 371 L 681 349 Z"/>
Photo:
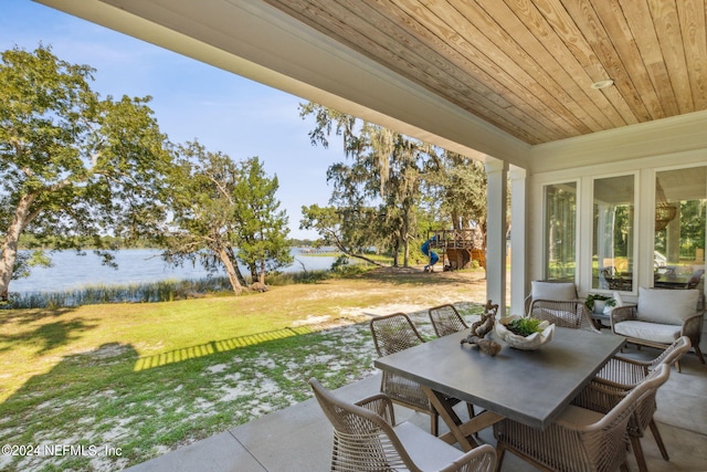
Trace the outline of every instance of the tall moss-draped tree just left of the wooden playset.
<path fill-rule="evenodd" d="M 341 136 L 345 153 L 351 159 L 351 164 L 338 162 L 327 171 L 328 181 L 334 183 L 330 203 L 342 211 L 340 234 L 366 232 L 358 224 L 360 220 L 349 221 L 347 217 L 378 206 L 380 218 L 368 228 L 370 242 L 382 242 L 392 252 L 394 265 L 402 251 L 403 265 L 408 266 L 409 242 L 416 232 L 422 174 L 432 147 L 370 123 L 358 123 L 331 108 L 302 105 L 300 116 L 309 115 L 316 122 L 309 133 L 312 143 L 327 147 L 331 134 Z M 349 241 L 342 241 L 342 245 L 355 247 Z"/>

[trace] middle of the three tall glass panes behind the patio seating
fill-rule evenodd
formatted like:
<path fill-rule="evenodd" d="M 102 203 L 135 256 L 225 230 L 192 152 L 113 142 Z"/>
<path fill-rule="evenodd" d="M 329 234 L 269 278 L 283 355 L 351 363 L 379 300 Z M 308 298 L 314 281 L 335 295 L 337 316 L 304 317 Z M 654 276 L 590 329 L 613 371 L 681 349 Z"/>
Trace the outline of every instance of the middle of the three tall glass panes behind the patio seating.
<path fill-rule="evenodd" d="M 633 291 L 635 177 L 594 180 L 592 289 Z"/>

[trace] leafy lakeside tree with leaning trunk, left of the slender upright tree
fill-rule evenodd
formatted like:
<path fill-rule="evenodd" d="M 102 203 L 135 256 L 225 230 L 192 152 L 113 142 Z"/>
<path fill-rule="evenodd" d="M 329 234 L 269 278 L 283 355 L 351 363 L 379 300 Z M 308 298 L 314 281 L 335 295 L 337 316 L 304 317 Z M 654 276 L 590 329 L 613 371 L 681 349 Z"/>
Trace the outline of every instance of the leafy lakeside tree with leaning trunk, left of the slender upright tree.
<path fill-rule="evenodd" d="M 211 272 L 223 268 L 239 294 L 247 285 L 234 250 L 240 171 L 229 156 L 209 153 L 199 143 L 179 146 L 177 154 L 168 200 L 172 220 L 161 239 L 162 256 L 172 264 L 200 262 Z"/>

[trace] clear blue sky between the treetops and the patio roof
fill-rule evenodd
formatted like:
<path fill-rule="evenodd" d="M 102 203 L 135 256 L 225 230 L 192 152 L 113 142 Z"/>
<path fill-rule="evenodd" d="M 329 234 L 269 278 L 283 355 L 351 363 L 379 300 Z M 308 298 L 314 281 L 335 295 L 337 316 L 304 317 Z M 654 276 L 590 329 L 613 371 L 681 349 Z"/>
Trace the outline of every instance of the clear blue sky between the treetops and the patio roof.
<path fill-rule="evenodd" d="M 40 43 L 60 60 L 94 67 L 92 90 L 102 97 L 150 95 L 148 106 L 171 143 L 197 139 L 236 161 L 257 156 L 267 176 L 277 176 L 289 237 L 317 238 L 299 230 L 300 209 L 327 204 L 326 170 L 345 157 L 336 139 L 328 149 L 310 144 L 314 119 L 298 111 L 306 99 L 30 0 L 2 0 L 0 51 L 34 51 Z"/>

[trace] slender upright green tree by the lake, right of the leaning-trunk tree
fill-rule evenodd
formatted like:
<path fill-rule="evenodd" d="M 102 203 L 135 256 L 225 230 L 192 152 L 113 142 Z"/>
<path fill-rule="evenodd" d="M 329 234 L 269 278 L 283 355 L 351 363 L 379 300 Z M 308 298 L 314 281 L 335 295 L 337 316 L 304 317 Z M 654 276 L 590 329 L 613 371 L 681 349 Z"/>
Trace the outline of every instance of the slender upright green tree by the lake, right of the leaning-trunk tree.
<path fill-rule="evenodd" d="M 264 290 L 265 275 L 293 261 L 287 242 L 288 219 L 275 198 L 277 176 L 267 178 L 257 157 L 241 162 L 240 177 L 233 192 L 238 258 L 249 266 L 258 289 Z"/>

